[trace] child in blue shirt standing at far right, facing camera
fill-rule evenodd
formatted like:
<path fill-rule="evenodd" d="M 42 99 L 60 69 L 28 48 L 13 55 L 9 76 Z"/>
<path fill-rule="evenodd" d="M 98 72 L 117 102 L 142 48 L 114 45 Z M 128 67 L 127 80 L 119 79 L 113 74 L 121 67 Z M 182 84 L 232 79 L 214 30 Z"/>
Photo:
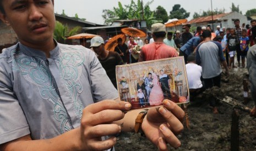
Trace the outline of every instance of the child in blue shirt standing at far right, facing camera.
<path fill-rule="evenodd" d="M 242 37 L 240 38 L 240 48 L 241 48 L 241 57 L 242 57 L 242 68 L 246 67 L 245 60 L 247 56 L 247 51 L 249 50 L 250 39 L 247 37 L 247 30 L 242 30 Z"/>

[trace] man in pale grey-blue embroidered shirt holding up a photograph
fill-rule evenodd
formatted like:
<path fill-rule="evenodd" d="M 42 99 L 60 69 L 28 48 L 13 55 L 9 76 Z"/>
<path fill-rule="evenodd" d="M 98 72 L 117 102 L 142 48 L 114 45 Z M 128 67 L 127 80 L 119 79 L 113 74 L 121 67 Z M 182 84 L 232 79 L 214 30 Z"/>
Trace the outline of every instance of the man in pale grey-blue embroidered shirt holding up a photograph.
<path fill-rule="evenodd" d="M 54 1 L 0 0 L 19 42 L 0 55 L 0 150 L 106 150 L 139 127 L 160 150 L 177 148 L 184 112 L 165 100 L 147 112 L 119 100 L 94 52 L 53 39 Z M 102 83 L 104 81 L 104 83 Z M 137 124 L 138 125 L 138 124 Z M 112 136 L 102 140 L 104 136 Z"/>

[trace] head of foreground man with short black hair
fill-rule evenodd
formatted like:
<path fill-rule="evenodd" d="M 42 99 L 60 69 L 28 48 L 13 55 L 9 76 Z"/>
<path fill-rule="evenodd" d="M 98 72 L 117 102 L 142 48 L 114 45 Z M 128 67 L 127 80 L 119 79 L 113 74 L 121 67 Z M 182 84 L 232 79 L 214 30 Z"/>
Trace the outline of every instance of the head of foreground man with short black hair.
<path fill-rule="evenodd" d="M 13 28 L 21 43 L 35 45 L 52 40 L 55 29 L 53 0 L 2 0 L 0 18 Z"/>

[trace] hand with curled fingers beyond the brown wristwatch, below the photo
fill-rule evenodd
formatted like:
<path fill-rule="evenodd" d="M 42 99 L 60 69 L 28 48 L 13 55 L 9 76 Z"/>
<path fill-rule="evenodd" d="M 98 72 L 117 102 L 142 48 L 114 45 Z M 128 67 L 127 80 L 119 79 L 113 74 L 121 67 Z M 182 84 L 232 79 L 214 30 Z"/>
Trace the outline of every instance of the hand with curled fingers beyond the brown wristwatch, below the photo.
<path fill-rule="evenodd" d="M 151 108 L 143 120 L 142 130 L 159 150 L 167 150 L 167 143 L 178 148 L 181 142 L 175 136 L 183 130 L 184 111 L 170 100 L 163 101 L 164 107 Z"/>

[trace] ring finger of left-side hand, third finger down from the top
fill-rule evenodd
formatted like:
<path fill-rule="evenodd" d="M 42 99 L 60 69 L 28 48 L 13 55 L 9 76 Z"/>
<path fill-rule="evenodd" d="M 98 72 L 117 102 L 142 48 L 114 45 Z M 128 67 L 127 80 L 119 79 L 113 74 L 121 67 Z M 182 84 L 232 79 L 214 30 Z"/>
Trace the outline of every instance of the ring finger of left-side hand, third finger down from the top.
<path fill-rule="evenodd" d="M 91 127 L 91 129 L 85 133 L 85 136 L 89 138 L 99 138 L 101 136 L 116 135 L 121 132 L 121 126 L 117 124 L 101 124 Z"/>

